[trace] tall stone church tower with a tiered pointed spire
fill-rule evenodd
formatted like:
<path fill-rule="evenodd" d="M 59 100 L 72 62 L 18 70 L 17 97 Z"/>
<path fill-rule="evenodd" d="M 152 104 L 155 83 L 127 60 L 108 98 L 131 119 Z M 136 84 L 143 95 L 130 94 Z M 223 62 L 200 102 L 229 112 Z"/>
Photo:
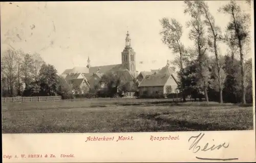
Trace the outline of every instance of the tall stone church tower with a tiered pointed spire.
<path fill-rule="evenodd" d="M 136 53 L 131 46 L 131 38 L 128 31 L 125 38 L 125 48 L 121 54 L 122 65 L 124 65 L 130 72 L 136 72 Z"/>

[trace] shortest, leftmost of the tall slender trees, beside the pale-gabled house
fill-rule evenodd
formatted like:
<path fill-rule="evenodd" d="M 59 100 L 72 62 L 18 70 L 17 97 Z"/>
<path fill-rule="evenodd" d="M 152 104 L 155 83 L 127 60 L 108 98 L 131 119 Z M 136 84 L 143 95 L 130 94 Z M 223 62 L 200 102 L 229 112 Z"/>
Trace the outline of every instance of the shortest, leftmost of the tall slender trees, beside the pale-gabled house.
<path fill-rule="evenodd" d="M 164 17 L 160 20 L 160 23 L 162 25 L 162 31 L 160 32 L 160 35 L 162 35 L 162 41 L 164 44 L 168 45 L 168 48 L 174 52 L 174 54 L 178 54 L 176 56 L 175 63 L 180 67 L 180 71 L 183 71 L 183 64 L 186 61 L 186 52 L 183 43 L 181 42 L 181 36 L 182 36 L 182 25 L 179 21 L 172 18 L 169 19 Z M 176 62 L 178 61 L 178 62 Z M 182 84 L 182 83 L 181 83 Z M 183 84 L 182 84 L 183 85 Z M 183 90 L 182 86 L 182 90 Z M 186 101 L 184 90 L 183 92 L 183 101 Z"/>

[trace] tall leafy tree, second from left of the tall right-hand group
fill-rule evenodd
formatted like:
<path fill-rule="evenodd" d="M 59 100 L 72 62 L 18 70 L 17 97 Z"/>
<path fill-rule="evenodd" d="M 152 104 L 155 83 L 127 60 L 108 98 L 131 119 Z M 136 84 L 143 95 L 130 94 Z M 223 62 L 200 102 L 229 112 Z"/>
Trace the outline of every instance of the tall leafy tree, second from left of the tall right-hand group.
<path fill-rule="evenodd" d="M 203 13 L 199 10 L 197 3 L 191 1 L 185 1 L 184 3 L 186 5 L 184 13 L 188 13 L 191 17 L 191 20 L 187 21 L 187 26 L 191 28 L 189 32 L 189 39 L 195 41 L 195 49 L 193 51 L 195 54 L 198 54 L 198 84 L 203 88 L 205 99 L 208 102 L 207 88 L 209 85 L 208 80 L 210 74 L 206 62 L 207 39 L 205 38 L 205 29 L 201 18 Z"/>

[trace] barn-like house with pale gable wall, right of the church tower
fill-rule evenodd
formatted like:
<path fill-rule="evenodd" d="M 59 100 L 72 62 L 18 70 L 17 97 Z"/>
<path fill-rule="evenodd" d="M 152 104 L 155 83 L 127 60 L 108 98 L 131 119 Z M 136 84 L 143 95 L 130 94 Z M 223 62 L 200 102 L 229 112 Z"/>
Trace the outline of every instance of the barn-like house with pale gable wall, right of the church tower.
<path fill-rule="evenodd" d="M 178 79 L 174 69 L 167 64 L 156 74 L 146 76 L 139 84 L 140 98 L 159 98 L 177 94 Z"/>

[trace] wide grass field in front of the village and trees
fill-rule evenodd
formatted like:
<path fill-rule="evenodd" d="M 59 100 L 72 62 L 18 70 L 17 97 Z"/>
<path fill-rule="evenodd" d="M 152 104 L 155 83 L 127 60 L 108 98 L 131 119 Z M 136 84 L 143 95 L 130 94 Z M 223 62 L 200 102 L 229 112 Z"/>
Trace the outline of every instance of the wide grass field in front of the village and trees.
<path fill-rule="evenodd" d="M 171 99 L 3 103 L 3 133 L 156 132 L 253 129 L 252 106 Z"/>

